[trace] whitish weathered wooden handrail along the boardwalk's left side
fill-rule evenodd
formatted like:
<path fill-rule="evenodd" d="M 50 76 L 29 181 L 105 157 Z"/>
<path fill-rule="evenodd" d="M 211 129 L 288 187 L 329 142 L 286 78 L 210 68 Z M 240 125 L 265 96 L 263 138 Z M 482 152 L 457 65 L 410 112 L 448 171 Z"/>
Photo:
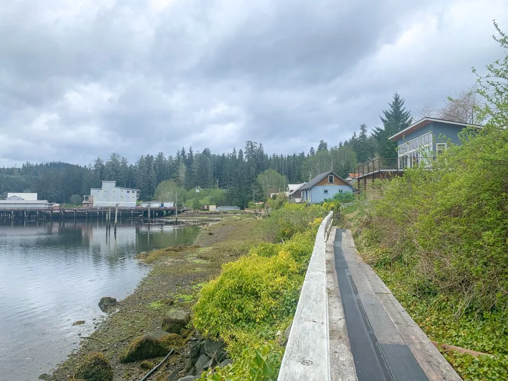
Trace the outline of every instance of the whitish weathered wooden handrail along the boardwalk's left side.
<path fill-rule="evenodd" d="M 317 230 L 277 381 L 330 381 L 325 252 L 332 216 Z"/>

